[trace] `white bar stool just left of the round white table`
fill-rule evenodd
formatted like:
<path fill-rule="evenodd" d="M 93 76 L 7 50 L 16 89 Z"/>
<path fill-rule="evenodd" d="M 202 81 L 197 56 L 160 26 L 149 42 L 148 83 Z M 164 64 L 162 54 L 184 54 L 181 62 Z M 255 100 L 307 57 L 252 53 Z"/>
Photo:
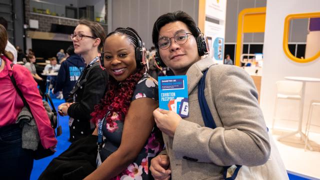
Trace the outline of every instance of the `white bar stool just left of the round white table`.
<path fill-rule="evenodd" d="M 278 99 L 290 99 L 290 100 L 301 100 L 301 90 L 302 90 L 302 82 L 296 82 L 292 80 L 278 80 L 275 82 L 276 84 L 276 97 L 274 103 L 274 111 L 272 118 L 272 129 L 274 128 L 274 122 L 276 119 L 276 110 Z M 299 108 L 300 105 L 299 105 Z"/>

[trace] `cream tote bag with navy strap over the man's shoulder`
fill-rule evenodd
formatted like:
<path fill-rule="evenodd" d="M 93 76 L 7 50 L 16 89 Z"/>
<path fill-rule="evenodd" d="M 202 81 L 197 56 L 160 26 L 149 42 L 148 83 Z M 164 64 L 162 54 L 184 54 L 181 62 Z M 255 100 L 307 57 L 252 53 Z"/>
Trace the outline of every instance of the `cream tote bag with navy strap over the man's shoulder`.
<path fill-rule="evenodd" d="M 203 76 L 198 83 L 198 101 L 201 109 L 202 118 L 206 127 L 215 128 L 215 122 L 209 106 L 205 100 L 204 87 L 205 76 L 208 69 L 203 72 Z M 262 165 L 246 166 L 234 164 L 223 166 L 223 178 L 225 180 L 238 179 L 289 179 L 285 166 L 276 148 L 275 142 L 268 131 L 271 152 L 269 159 Z"/>

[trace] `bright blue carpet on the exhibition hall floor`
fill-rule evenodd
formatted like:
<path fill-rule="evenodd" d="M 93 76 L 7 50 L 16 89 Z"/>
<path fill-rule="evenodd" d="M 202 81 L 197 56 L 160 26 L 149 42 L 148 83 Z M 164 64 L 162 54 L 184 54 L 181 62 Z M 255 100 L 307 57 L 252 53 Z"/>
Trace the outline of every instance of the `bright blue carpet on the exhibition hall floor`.
<path fill-rule="evenodd" d="M 57 106 L 60 103 L 64 102 L 63 99 L 60 100 L 60 99 L 56 99 L 54 97 L 52 97 L 52 101 L 54 103 L 55 109 L 57 109 Z M 63 116 L 63 117 L 59 116 L 58 118 L 59 118 L 60 125 L 62 127 L 62 134 L 57 137 L 58 143 L 56 145 L 56 152 L 53 155 L 45 157 L 43 159 L 34 160 L 33 169 L 32 169 L 31 177 L 30 177 L 31 180 L 37 179 L 39 177 L 39 175 L 41 174 L 41 172 L 48 165 L 48 163 L 52 160 L 52 158 L 58 156 L 65 149 L 67 149 L 68 146 L 70 145 L 70 142 L 68 141 L 68 138 L 69 138 L 68 120 L 69 120 L 69 118 L 68 118 L 68 116 Z M 288 173 L 288 175 L 289 175 L 290 180 L 307 180 L 307 178 L 300 177 L 300 176 L 297 176 L 294 174 Z"/>

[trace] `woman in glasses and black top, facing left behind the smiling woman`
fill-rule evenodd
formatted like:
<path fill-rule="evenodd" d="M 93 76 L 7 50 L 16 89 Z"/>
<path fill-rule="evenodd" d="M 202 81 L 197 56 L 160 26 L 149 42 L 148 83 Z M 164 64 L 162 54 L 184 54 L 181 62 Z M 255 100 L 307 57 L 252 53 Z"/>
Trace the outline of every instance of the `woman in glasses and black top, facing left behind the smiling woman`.
<path fill-rule="evenodd" d="M 94 124 L 90 124 L 90 113 L 107 88 L 108 74 L 99 65 L 104 37 L 104 29 L 100 24 L 85 19 L 79 21 L 74 33 L 70 35 L 74 52 L 81 55 L 86 64 L 71 91 L 73 102 L 65 102 L 58 106 L 60 115 L 71 117 L 69 121 L 71 142 L 92 133 Z"/>

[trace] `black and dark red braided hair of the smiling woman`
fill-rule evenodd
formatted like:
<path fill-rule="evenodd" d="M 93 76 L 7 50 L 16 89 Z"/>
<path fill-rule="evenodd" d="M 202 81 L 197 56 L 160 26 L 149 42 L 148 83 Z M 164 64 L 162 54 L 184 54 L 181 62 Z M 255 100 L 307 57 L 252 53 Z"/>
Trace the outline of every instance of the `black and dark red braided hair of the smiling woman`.
<path fill-rule="evenodd" d="M 128 30 L 125 30 L 128 29 Z M 135 31 L 134 31 L 135 32 Z M 129 36 L 129 39 L 133 43 L 133 46 L 136 47 L 138 40 L 137 36 L 131 35 L 132 28 L 117 28 L 113 32 L 110 32 L 107 37 L 115 34 L 121 33 L 123 35 Z M 105 40 L 107 39 L 105 38 Z M 105 41 L 104 40 L 104 41 Z M 111 116 L 113 112 L 122 112 L 123 115 L 126 115 L 135 85 L 142 78 L 143 73 L 145 72 L 145 65 L 136 66 L 135 73 L 129 75 L 125 80 L 119 82 L 116 81 L 112 76 L 109 76 L 109 89 L 106 92 L 105 96 L 101 99 L 100 103 L 94 106 L 94 111 L 91 112 L 91 121 L 96 123 L 97 120 L 104 117 L 107 111 L 111 113 L 106 117 L 106 122 L 110 123 Z M 112 123 L 109 124 L 112 126 Z"/>

